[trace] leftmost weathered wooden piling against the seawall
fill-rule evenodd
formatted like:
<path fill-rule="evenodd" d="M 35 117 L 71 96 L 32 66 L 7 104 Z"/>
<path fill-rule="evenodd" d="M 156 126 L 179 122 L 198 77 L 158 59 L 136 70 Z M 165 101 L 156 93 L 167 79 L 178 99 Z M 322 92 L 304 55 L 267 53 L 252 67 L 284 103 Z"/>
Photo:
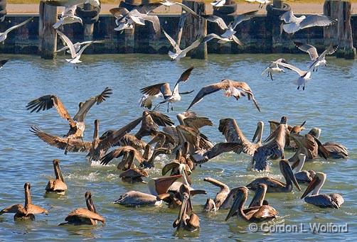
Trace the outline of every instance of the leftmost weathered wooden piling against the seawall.
<path fill-rule="evenodd" d="M 40 38 L 40 55 L 43 59 L 55 58 L 55 50 L 57 48 L 57 33 L 53 28 L 53 24 L 57 22 L 57 6 L 48 4 L 40 4 L 40 27 L 38 35 Z"/>

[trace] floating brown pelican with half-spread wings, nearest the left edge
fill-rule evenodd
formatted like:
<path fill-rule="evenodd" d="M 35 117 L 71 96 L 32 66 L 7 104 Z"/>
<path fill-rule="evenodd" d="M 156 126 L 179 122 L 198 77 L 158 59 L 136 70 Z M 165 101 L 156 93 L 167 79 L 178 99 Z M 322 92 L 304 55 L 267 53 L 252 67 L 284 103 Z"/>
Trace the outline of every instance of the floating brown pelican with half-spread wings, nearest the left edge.
<path fill-rule="evenodd" d="M 14 219 L 35 219 L 36 214 L 46 214 L 48 211 L 39 207 L 35 204 L 32 204 L 31 199 L 31 185 L 30 182 L 26 182 L 23 186 L 25 188 L 25 206 L 22 204 L 15 204 L 10 207 L 6 207 L 0 211 L 1 214 L 11 213 L 15 214 Z"/>

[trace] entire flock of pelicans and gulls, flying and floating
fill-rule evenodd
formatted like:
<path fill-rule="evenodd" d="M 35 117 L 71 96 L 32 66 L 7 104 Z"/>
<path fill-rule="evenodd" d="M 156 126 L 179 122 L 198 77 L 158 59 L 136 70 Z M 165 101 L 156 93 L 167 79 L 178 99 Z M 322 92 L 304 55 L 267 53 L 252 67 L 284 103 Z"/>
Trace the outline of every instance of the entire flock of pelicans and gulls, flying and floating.
<path fill-rule="evenodd" d="M 80 56 L 87 46 L 95 41 L 87 43 L 73 44 L 67 36 L 65 36 L 58 28 L 68 23 L 80 22 L 78 17 L 74 16 L 73 5 L 78 4 L 78 1 L 67 1 L 65 11 L 58 23 L 55 23 L 54 28 L 57 28 L 57 33 L 65 43 L 65 47 L 58 51 L 69 50 L 71 59 L 66 59 L 72 64 L 80 62 Z M 96 3 L 97 1 L 95 1 Z M 260 1 L 259 1 L 260 2 Z M 265 1 L 268 2 L 268 1 Z M 262 4 L 265 4 L 262 2 Z M 213 6 L 223 6 L 225 1 L 214 1 Z M 206 18 L 218 24 L 225 31 L 222 35 L 215 33 L 207 36 L 199 36 L 196 41 L 188 48 L 181 50 L 176 41 L 173 40 L 165 31 L 164 35 L 174 47 L 175 53 L 169 52 L 171 59 L 179 60 L 185 57 L 186 54 L 196 48 L 200 43 L 206 42 L 213 38 L 218 38 L 219 41 L 227 42 L 234 41 L 238 45 L 242 43 L 235 36 L 235 27 L 243 21 L 249 21 L 255 16 L 257 11 L 250 11 L 239 16 L 234 16 L 234 21 L 228 25 L 218 16 L 198 16 L 197 13 L 189 9 L 187 6 L 170 1 L 163 1 L 161 4 L 171 6 L 178 4 L 182 6 L 183 11 L 193 14 L 197 18 Z M 116 18 L 116 31 L 121 31 L 126 28 L 134 28 L 135 24 L 145 24 L 145 21 L 153 23 L 156 32 L 161 31 L 159 26 L 159 18 L 157 16 L 148 15 L 152 6 L 147 4 L 139 9 L 127 11 L 124 8 L 112 9 L 111 13 Z M 141 13 L 140 11 L 144 11 Z M 302 16 L 297 18 L 292 11 L 284 13 L 280 17 L 284 22 L 284 31 L 294 33 L 299 29 L 311 26 L 328 26 L 336 21 L 326 16 Z M 30 21 L 20 23 L 18 26 L 9 28 L 5 33 L 0 33 L 0 42 L 6 39 L 7 33 L 23 26 Z M 284 72 L 284 69 L 297 72 L 299 78 L 296 80 L 298 89 L 311 77 L 311 70 L 314 72 L 318 67 L 326 65 L 325 56 L 333 54 L 337 46 L 330 45 L 320 55 L 317 53 L 314 46 L 294 42 L 300 50 L 309 53 L 311 62 L 307 70 L 303 71 L 293 65 L 287 63 L 284 59 L 273 61 L 262 74 L 267 74 L 273 79 L 273 74 Z M 84 45 L 81 48 L 81 45 Z M 0 62 L 0 68 L 4 66 L 7 60 Z M 274 208 L 274 204 L 267 201 L 269 199 L 267 193 L 270 192 L 292 192 L 294 187 L 302 191 L 301 187 L 307 184 L 307 188 L 303 192 L 301 198 L 309 204 L 321 208 L 339 209 L 343 204 L 341 194 L 319 194 L 321 187 L 326 181 L 324 172 L 314 170 L 302 170 L 304 163 L 317 158 L 324 159 L 339 159 L 348 158 L 347 148 L 335 142 L 321 143 L 319 141 L 321 129 L 311 128 L 308 133 L 302 134 L 306 123 L 303 121 L 299 125 L 289 125 L 287 116 L 282 116 L 280 121 L 269 121 L 270 135 L 262 138 L 265 124 L 263 121 L 257 123 L 255 135 L 250 141 L 245 137 L 243 131 L 238 126 L 239 121 L 232 118 L 220 119 L 218 132 L 225 138 L 225 142 L 213 144 L 208 137 L 202 133 L 201 128 L 204 126 L 213 126 L 212 121 L 205 116 L 198 116 L 193 109 L 194 106 L 199 106 L 198 102 L 203 100 L 208 94 L 213 94 L 220 90 L 223 91 L 225 97 L 234 97 L 236 101 L 240 98 L 247 98 L 252 101 L 257 111 L 260 111 L 260 106 L 255 99 L 255 95 L 245 82 L 238 82 L 232 79 L 222 79 L 220 82 L 209 84 L 202 87 L 193 98 L 191 104 L 186 111 L 181 114 L 176 114 L 179 123 L 175 126 L 169 116 L 159 111 L 160 105 L 167 103 L 166 112 L 174 111 L 173 104 L 181 101 L 181 95 L 191 94 L 193 90 L 188 92 L 179 92 L 179 84 L 187 84 L 188 79 L 194 74 L 194 67 L 185 70 L 175 82 L 174 89 L 171 90 L 169 82 L 152 84 L 148 87 L 142 87 L 138 90 L 142 97 L 139 99 L 139 105 L 144 109 L 142 115 L 138 115 L 137 119 L 129 121 L 126 125 L 119 129 L 105 131 L 100 136 L 100 121 L 95 120 L 95 130 L 91 141 L 85 141 L 85 116 L 95 104 L 99 105 L 103 101 L 110 101 L 110 97 L 114 94 L 110 87 L 106 87 L 100 94 L 90 97 L 87 101 L 80 102 L 78 112 L 73 118 L 68 113 L 65 105 L 55 94 L 46 94 L 29 101 L 26 109 L 33 112 L 46 111 L 55 109 L 62 119 L 68 121 L 69 129 L 64 136 L 54 135 L 41 130 L 38 126 L 31 126 L 30 131 L 33 135 L 40 138 L 49 145 L 64 150 L 65 155 L 70 153 L 85 153 L 87 160 L 90 163 L 99 163 L 100 165 L 108 165 L 109 163 L 117 162 L 117 170 L 119 170 L 119 178 L 122 182 L 144 182 L 147 183 L 149 193 L 140 191 L 127 191 L 119 195 L 119 198 L 113 202 L 119 206 L 128 207 L 145 207 L 145 206 L 166 206 L 178 209 L 178 218 L 174 220 L 173 226 L 177 229 L 186 231 L 196 231 L 200 227 L 200 219 L 193 211 L 191 197 L 198 194 L 206 194 L 205 190 L 195 189 L 192 184 L 191 177 L 196 169 L 204 166 L 213 158 L 222 155 L 223 153 L 245 153 L 250 155 L 251 163 L 247 167 L 252 170 L 252 174 L 257 178 L 252 180 L 244 187 L 230 188 L 223 182 L 215 180 L 213 177 L 204 178 L 205 182 L 210 183 L 219 188 L 216 196 L 208 198 L 206 204 L 203 205 L 204 211 L 215 213 L 218 209 L 227 209 L 226 221 L 231 217 L 238 217 L 245 221 L 266 221 L 275 219 L 278 216 L 278 211 Z M 109 100 L 107 100 L 109 99 Z M 159 99 L 160 101 L 156 101 Z M 254 109 L 253 109 L 254 110 Z M 139 127 L 136 133 L 134 129 Z M 144 141 L 149 139 L 148 142 Z M 285 150 L 294 150 L 294 155 L 290 158 L 285 157 Z M 161 177 L 150 177 L 151 169 L 155 167 L 158 156 L 166 155 L 169 158 L 169 163 L 166 163 L 162 168 Z M 120 160 L 119 160 L 120 159 Z M 277 160 L 277 161 L 275 161 Z M 260 172 L 270 170 L 272 165 L 278 165 L 284 181 L 276 180 L 272 177 L 261 177 Z M 45 188 L 46 192 L 56 193 L 59 196 L 65 195 L 67 189 L 70 189 L 70 184 L 66 185 L 60 170 L 60 160 L 53 160 L 53 170 L 55 179 L 48 181 Z M 147 182 L 146 182 L 147 181 Z M 35 219 L 37 214 L 50 214 L 50 211 L 42 207 L 38 207 L 32 203 L 31 199 L 31 184 L 26 182 L 25 189 L 25 204 L 15 204 L 6 207 L 0 211 L 0 214 L 14 213 L 14 219 Z M 252 201 L 249 206 L 245 207 L 245 202 L 249 191 L 254 192 Z M 97 213 L 91 192 L 85 193 L 86 209 L 79 208 L 66 216 L 65 224 L 90 224 L 97 225 L 98 221 L 105 223 L 105 218 Z M 284 214 L 287 211 L 282 211 Z"/>

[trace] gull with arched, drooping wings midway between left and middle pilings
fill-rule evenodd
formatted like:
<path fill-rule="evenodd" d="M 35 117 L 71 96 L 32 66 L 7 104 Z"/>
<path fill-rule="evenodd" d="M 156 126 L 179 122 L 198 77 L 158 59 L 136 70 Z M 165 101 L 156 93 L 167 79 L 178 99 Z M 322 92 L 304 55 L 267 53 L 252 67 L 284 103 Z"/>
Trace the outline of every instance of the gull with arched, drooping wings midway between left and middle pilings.
<path fill-rule="evenodd" d="M 152 23 L 156 36 L 160 35 L 160 21 L 159 17 L 156 15 L 148 15 L 147 13 L 140 13 L 137 9 L 128 11 L 125 8 L 119 7 L 110 9 L 110 13 L 117 18 L 115 23 L 117 23 L 117 28 L 114 31 L 122 31 L 124 29 L 134 28 L 134 24 L 145 25 L 145 21 Z"/>

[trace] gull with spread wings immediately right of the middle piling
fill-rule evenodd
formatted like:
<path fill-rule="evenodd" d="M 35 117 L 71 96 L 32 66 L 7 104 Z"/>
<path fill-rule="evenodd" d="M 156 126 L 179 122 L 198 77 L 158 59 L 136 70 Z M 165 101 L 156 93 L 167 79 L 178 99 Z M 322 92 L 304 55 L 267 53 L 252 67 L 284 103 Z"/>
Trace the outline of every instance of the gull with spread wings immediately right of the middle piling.
<path fill-rule="evenodd" d="M 231 22 L 228 26 L 225 24 L 225 21 L 223 21 L 222 18 L 215 16 L 215 15 L 201 15 L 203 18 L 206 18 L 207 21 L 217 23 L 218 26 L 225 31 L 222 35 L 216 35 L 215 33 L 210 33 L 209 35 L 206 36 L 206 38 L 203 39 L 203 42 L 207 42 L 209 40 L 212 40 L 213 38 L 218 38 L 219 41 L 218 43 L 225 43 L 228 41 L 234 41 L 238 45 L 243 45 L 243 43 L 240 42 L 240 40 L 235 36 L 235 27 L 238 26 L 238 24 L 242 23 L 243 21 L 250 20 L 257 11 L 250 11 L 247 13 L 242 13 L 240 15 L 235 15 L 234 16 L 234 21 Z"/>

